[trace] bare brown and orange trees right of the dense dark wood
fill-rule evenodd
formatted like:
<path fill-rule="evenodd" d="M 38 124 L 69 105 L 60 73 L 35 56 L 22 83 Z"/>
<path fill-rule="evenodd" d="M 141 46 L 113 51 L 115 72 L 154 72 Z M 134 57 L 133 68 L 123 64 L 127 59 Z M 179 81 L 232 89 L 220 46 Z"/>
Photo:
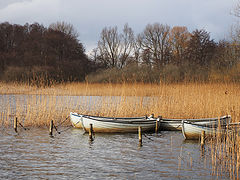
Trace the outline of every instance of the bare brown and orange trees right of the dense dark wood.
<path fill-rule="evenodd" d="M 92 59 L 107 70 L 89 75 L 88 81 L 239 81 L 238 38 L 215 42 L 203 29 L 189 32 L 159 23 L 138 35 L 128 24 L 122 32 L 106 27 Z"/>

